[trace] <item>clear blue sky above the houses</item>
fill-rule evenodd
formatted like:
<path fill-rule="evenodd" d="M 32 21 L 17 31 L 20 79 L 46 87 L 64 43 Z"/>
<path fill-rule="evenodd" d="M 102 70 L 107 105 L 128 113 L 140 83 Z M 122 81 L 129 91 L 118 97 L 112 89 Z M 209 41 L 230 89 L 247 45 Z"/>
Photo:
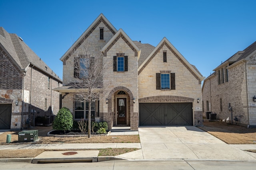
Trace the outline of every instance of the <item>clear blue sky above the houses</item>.
<path fill-rule="evenodd" d="M 0 0 L 0 8 L 0 26 L 60 78 L 60 58 L 100 13 L 133 41 L 166 37 L 205 77 L 256 41 L 255 0 Z"/>

